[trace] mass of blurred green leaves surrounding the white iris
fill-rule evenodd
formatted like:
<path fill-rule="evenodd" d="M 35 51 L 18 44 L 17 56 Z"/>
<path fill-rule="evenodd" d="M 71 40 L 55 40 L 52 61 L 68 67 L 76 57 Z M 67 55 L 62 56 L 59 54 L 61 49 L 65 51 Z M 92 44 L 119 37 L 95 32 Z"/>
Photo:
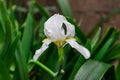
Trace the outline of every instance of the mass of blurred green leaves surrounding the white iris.
<path fill-rule="evenodd" d="M 0 0 L 0 80 L 120 80 L 120 30 L 109 26 L 100 37 L 101 28 L 99 28 L 112 16 L 118 14 L 120 9 L 102 19 L 86 36 L 75 22 L 68 1 L 57 0 L 57 2 L 61 9 L 59 13 L 75 25 L 75 37 L 90 50 L 91 58 L 85 60 L 69 45 L 65 46 L 63 65 L 65 73 L 57 77 L 52 77 L 38 65 L 29 63 L 35 50 L 41 47 L 45 38 L 43 28 L 44 22 L 50 17 L 49 11 L 39 3 L 31 1 L 27 17 L 22 19 L 23 16 L 21 18 L 15 13 L 17 5 L 10 5 L 7 8 L 5 1 Z M 34 18 L 35 8 L 41 14 L 39 20 Z M 91 35 L 93 38 L 89 38 Z M 118 63 L 115 63 L 114 67 L 113 63 L 116 60 Z M 39 61 L 57 72 L 56 46 L 51 44 L 40 56 Z"/>

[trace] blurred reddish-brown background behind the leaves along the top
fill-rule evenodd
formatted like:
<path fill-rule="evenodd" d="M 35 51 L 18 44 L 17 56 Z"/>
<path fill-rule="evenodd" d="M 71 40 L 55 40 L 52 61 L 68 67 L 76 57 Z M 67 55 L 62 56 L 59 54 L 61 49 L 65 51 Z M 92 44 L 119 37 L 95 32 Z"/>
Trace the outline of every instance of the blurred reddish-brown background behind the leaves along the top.
<path fill-rule="evenodd" d="M 13 0 L 15 4 L 28 8 L 30 0 Z M 59 5 L 56 0 L 36 0 L 43 7 L 49 8 L 51 14 L 59 12 Z M 120 0 L 68 0 L 71 10 L 77 22 L 81 22 L 80 28 L 84 33 L 88 33 L 91 28 L 101 19 L 106 17 L 111 11 L 120 8 Z M 103 25 L 103 31 L 108 25 L 120 28 L 120 14 L 112 17 Z"/>

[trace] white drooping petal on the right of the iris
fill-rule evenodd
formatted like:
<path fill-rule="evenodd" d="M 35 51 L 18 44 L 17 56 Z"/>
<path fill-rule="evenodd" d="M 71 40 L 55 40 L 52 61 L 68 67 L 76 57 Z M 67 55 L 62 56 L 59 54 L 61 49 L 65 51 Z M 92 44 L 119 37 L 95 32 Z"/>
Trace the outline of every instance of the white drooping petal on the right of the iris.
<path fill-rule="evenodd" d="M 77 51 L 79 51 L 85 57 L 85 59 L 88 59 L 90 57 L 90 52 L 88 49 L 79 45 L 75 40 L 66 40 L 66 42 L 69 43 Z"/>

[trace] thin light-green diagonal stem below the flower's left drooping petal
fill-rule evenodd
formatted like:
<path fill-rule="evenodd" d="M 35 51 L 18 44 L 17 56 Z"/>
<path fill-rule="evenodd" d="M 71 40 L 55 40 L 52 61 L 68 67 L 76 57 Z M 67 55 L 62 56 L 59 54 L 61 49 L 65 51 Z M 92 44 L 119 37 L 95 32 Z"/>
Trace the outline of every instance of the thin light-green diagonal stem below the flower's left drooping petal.
<path fill-rule="evenodd" d="M 33 62 L 35 64 L 37 64 L 38 66 L 40 66 L 41 68 L 43 68 L 45 71 L 47 71 L 50 75 L 52 75 L 53 77 L 56 77 L 57 76 L 57 72 L 53 72 L 51 69 L 49 69 L 47 66 L 45 66 L 44 64 L 42 64 L 41 62 L 39 61 L 34 61 L 34 60 L 31 60 L 30 62 Z"/>

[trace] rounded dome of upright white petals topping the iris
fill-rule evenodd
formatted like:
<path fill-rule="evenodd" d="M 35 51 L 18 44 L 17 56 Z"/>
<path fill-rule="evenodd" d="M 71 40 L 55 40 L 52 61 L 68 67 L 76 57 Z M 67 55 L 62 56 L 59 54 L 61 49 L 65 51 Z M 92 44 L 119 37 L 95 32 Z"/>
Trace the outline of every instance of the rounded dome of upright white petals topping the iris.
<path fill-rule="evenodd" d="M 66 26 L 66 30 L 63 28 Z M 50 17 L 44 24 L 44 33 L 52 41 L 64 40 L 67 37 L 74 37 L 74 25 L 69 23 L 62 15 L 55 14 Z"/>

